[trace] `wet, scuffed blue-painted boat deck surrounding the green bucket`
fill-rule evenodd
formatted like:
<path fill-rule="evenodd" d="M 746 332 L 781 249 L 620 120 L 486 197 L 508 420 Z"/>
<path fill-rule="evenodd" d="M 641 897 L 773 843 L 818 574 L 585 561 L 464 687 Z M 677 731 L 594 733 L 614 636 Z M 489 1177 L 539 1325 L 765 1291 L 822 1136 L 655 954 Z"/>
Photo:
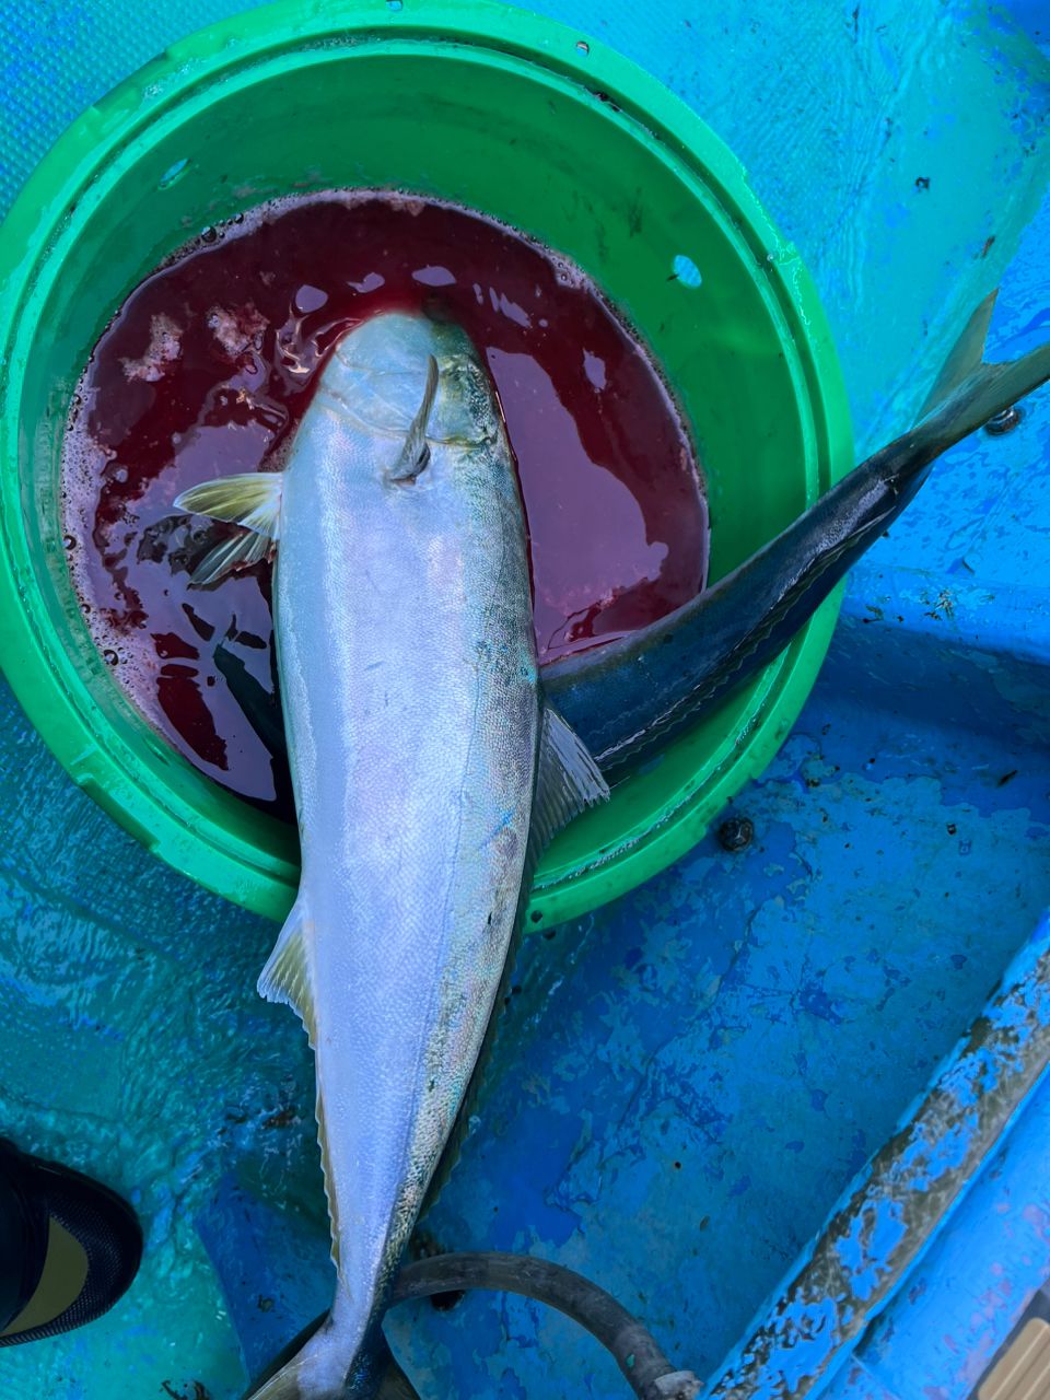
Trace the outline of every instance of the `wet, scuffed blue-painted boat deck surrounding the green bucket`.
<path fill-rule="evenodd" d="M 627 0 L 536 7 L 651 69 L 743 160 L 818 281 L 861 449 L 904 427 L 995 280 L 993 354 L 1046 332 L 1043 0 L 987 24 L 966 0 L 925 17 L 907 0 L 673 0 L 659 22 Z M 87 102 L 246 8 L 174 0 L 129 25 L 101 0 L 0 0 L 0 209 Z M 528 942 L 477 1127 L 426 1222 L 437 1243 L 582 1268 L 700 1373 L 745 1336 L 1046 903 L 1049 399 L 955 449 L 854 571 L 805 713 L 735 804 L 753 846 L 708 836 Z M 273 931 L 118 832 L 3 689 L 0 799 L 3 1127 L 111 1180 L 147 1226 L 127 1299 L 4 1352 L 6 1393 L 111 1400 L 116 1366 L 129 1393 L 199 1380 L 234 1400 L 245 1361 L 329 1288 L 309 1061 L 294 1018 L 253 991 Z M 1028 1155 L 974 1186 L 988 1214 L 960 1208 L 914 1302 L 902 1291 L 846 1366 L 871 1400 L 910 1400 L 920 1379 L 962 1400 L 958 1357 L 990 1355 L 1050 1274 L 1039 1103 L 1005 1149 L 1026 1133 Z M 983 1330 L 962 1302 L 948 1322 L 953 1299 Z M 406 1306 L 391 1331 L 424 1393 L 624 1394 L 596 1344 L 524 1299 Z"/>

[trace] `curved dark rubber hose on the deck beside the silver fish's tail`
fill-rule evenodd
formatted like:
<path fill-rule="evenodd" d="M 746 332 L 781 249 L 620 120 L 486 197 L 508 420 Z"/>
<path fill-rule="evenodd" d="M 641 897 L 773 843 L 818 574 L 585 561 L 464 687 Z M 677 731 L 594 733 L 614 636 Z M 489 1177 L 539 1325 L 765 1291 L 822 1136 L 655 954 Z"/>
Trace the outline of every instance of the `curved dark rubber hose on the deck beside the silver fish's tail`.
<path fill-rule="evenodd" d="M 491 1288 L 522 1294 L 557 1308 L 612 1352 L 638 1400 L 692 1400 L 700 1383 L 692 1371 L 678 1371 L 652 1334 L 605 1289 L 571 1268 L 524 1254 L 437 1254 L 406 1264 L 391 1303 L 431 1294 Z"/>

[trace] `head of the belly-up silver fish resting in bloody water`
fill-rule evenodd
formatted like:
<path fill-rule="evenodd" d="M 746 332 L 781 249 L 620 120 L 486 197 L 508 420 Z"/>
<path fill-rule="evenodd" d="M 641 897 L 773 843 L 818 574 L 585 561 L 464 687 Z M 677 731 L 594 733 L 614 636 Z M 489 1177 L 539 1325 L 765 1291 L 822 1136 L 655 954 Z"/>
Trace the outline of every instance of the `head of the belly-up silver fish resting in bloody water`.
<path fill-rule="evenodd" d="M 477 449 L 504 433 L 493 382 L 469 335 L 419 314 L 381 312 L 347 332 L 318 399 L 371 435 L 368 462 L 388 482 L 437 483 L 469 469 Z M 414 470 L 419 462 L 440 470 Z"/>

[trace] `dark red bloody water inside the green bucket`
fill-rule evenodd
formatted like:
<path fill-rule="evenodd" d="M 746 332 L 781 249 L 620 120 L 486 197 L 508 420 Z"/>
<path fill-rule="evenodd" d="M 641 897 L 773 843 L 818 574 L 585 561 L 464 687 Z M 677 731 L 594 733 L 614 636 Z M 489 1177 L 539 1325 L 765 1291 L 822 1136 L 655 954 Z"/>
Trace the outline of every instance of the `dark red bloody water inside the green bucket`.
<path fill-rule="evenodd" d="M 654 622 L 704 582 L 687 435 L 571 265 L 477 214 L 391 195 L 281 200 L 209 230 L 132 293 L 94 350 L 66 434 L 66 547 L 136 704 L 197 767 L 286 815 L 269 564 L 190 588 L 230 526 L 171 503 L 279 466 L 333 343 L 377 311 L 430 305 L 466 328 L 500 393 L 540 661 Z"/>

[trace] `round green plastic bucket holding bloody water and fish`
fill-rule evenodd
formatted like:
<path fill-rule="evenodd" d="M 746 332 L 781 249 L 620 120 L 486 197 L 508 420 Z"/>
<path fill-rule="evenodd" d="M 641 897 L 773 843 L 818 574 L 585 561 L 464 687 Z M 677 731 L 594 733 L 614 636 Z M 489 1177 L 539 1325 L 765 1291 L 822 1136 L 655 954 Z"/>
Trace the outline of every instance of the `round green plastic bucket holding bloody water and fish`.
<path fill-rule="evenodd" d="M 209 224 L 332 186 L 456 200 L 598 281 L 692 424 L 713 578 L 851 466 L 798 255 L 704 123 L 573 29 L 468 0 L 277 4 L 175 45 L 85 112 L 0 230 L 0 662 L 80 787 L 162 860 L 274 918 L 295 834 L 192 769 L 118 689 L 66 568 L 59 462 L 77 378 L 143 276 Z M 529 927 L 594 909 L 700 839 L 794 722 L 836 609 L 554 843 Z"/>

